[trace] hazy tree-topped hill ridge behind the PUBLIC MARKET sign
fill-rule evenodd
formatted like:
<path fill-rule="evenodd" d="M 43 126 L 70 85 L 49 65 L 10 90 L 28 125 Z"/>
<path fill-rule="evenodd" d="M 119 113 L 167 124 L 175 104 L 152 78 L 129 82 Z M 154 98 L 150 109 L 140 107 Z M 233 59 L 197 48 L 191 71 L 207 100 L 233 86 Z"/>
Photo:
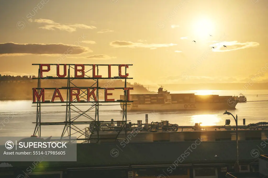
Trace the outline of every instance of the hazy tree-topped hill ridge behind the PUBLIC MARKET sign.
<path fill-rule="evenodd" d="M 32 88 L 38 87 L 38 80 L 32 79 L 35 76 L 10 76 L 10 75 L 1 75 L 0 74 L 0 100 L 32 100 Z M 79 79 L 73 80 L 77 87 L 90 87 L 95 81 L 88 79 Z M 103 88 L 115 88 L 115 87 L 124 87 L 123 80 L 99 80 L 99 86 Z M 96 85 L 94 85 L 96 86 Z M 59 88 L 67 87 L 66 79 L 44 79 L 41 80 L 41 88 Z M 134 90 L 131 90 L 131 94 L 149 94 L 155 93 L 148 91 L 142 84 L 139 83 L 127 83 L 127 87 L 133 87 Z M 52 97 L 54 90 L 46 91 L 45 97 Z M 99 91 L 103 92 L 103 91 Z M 124 94 L 124 90 L 114 90 L 109 91 L 113 93 L 113 96 L 109 98 L 120 99 L 120 95 Z M 61 91 L 62 97 L 66 98 L 66 90 Z M 100 99 L 104 98 L 104 94 L 99 96 Z"/>

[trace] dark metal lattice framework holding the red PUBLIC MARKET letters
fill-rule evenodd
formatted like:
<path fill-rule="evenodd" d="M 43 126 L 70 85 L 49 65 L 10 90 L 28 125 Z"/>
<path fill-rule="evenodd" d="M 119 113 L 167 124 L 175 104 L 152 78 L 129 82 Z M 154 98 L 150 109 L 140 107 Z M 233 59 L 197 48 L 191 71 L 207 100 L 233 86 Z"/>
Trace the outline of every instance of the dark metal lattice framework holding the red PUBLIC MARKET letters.
<path fill-rule="evenodd" d="M 52 76 L 47 76 L 47 77 L 41 77 L 42 75 L 42 68 L 40 67 L 41 64 L 32 64 L 32 65 L 39 65 L 39 70 L 38 70 L 38 77 L 37 78 L 33 78 L 33 79 L 38 79 L 38 87 L 37 88 L 33 88 L 33 90 L 35 89 L 38 94 L 40 94 L 42 89 L 56 89 L 56 88 L 41 88 L 41 80 L 45 79 L 59 79 L 58 77 L 52 77 Z M 99 80 L 100 79 L 110 79 L 110 80 L 115 80 L 115 79 L 124 79 L 124 87 L 117 87 L 114 89 L 124 89 L 126 88 L 126 83 L 127 83 L 127 79 L 133 79 L 133 78 L 128 78 L 128 77 L 108 77 L 108 78 L 96 78 L 96 77 L 90 77 L 87 75 L 88 72 L 90 72 L 94 67 L 97 69 L 95 69 L 97 75 L 99 74 L 99 66 L 119 66 L 121 64 L 83 64 L 85 66 L 92 66 L 92 69 L 85 71 L 85 76 L 84 78 L 81 77 L 71 77 L 70 76 L 70 69 L 75 69 L 74 65 L 75 64 L 49 64 L 49 65 L 67 65 L 68 68 L 68 75 L 67 77 L 64 78 L 60 78 L 60 79 L 67 79 L 67 87 L 61 87 L 58 88 L 59 90 L 61 89 L 65 89 L 67 90 L 67 99 L 66 101 L 54 101 L 51 102 L 50 100 L 48 101 L 41 101 L 41 99 L 37 100 L 37 101 L 33 101 L 33 104 L 36 104 L 36 122 L 33 122 L 36 124 L 35 126 L 35 130 L 33 133 L 33 136 L 39 136 L 41 137 L 41 126 L 45 126 L 45 125 L 64 125 L 64 129 L 62 131 L 61 134 L 61 138 L 62 139 L 66 139 L 69 138 L 76 133 L 80 133 L 80 136 L 77 137 L 77 140 L 84 140 L 84 142 L 89 142 L 89 140 L 95 140 L 97 142 L 99 142 L 101 140 L 101 138 L 99 137 L 99 126 L 101 124 L 112 124 L 112 121 L 100 121 L 99 120 L 99 106 L 111 106 L 111 105 L 105 105 L 105 103 L 119 103 L 119 104 L 114 104 L 114 105 L 122 105 L 120 104 L 120 102 L 123 103 L 123 115 L 122 115 L 122 121 L 117 121 L 117 122 L 121 122 L 121 129 L 118 131 L 118 134 L 115 138 L 115 140 L 119 139 L 117 138 L 118 135 L 120 134 L 120 132 L 122 130 L 125 131 L 125 138 L 126 139 L 126 122 L 127 122 L 127 105 L 129 105 L 129 102 L 133 102 L 133 101 L 129 101 L 128 99 L 128 93 L 129 91 L 124 90 L 124 99 L 123 100 L 114 100 L 114 101 L 99 101 L 99 90 L 100 89 L 105 89 L 102 87 L 99 87 Z M 128 64 L 128 66 L 130 66 L 132 64 Z M 126 67 L 127 68 L 127 67 Z M 125 74 L 126 74 L 126 68 L 125 68 Z M 76 86 L 74 84 L 74 80 L 77 79 L 89 79 L 89 80 L 93 80 L 95 83 L 92 84 L 90 87 L 79 87 Z M 80 102 L 77 101 L 77 98 L 75 100 L 70 98 L 70 89 L 71 88 L 79 88 L 82 93 L 79 94 L 79 98 L 84 98 L 87 94 L 86 92 L 89 91 L 87 90 L 88 88 L 93 89 L 96 88 L 96 98 L 97 101 L 88 101 L 87 98 L 84 98 L 85 100 L 81 100 Z M 83 91 L 85 90 L 85 91 Z M 93 99 L 93 98 L 92 98 Z M 65 121 L 63 122 L 42 122 L 41 121 L 41 104 L 43 103 L 66 103 L 66 105 L 59 105 L 59 106 L 66 106 L 66 116 L 65 116 Z M 77 105 L 76 103 L 80 103 L 80 105 Z M 81 105 L 81 103 L 87 103 L 86 106 L 90 106 L 86 111 L 82 111 L 81 109 L 79 109 L 79 106 L 85 106 L 85 105 Z M 90 105 L 88 104 L 90 103 Z M 113 105 L 113 106 L 114 106 Z M 51 106 L 51 105 L 46 105 L 46 106 Z M 74 110 L 73 108 L 77 109 L 78 111 Z M 95 115 L 93 117 L 91 117 L 88 113 L 88 111 L 90 110 L 94 110 L 95 109 Z M 73 112 L 72 112 L 73 111 Z M 87 121 L 76 121 L 76 119 L 78 119 L 79 117 L 84 116 L 86 117 L 88 120 Z M 94 125 L 94 130 L 91 130 L 90 136 L 88 137 L 88 135 L 86 134 L 86 129 L 79 129 L 76 125 L 87 125 L 85 128 L 89 128 L 90 125 Z M 71 131 L 75 131 L 74 133 L 71 133 Z M 97 139 L 91 139 L 92 134 L 94 134 L 94 131 L 97 132 L 98 138 Z M 81 136 L 85 136 L 85 138 L 80 138 Z M 86 138 L 88 137 L 88 138 Z M 121 139 L 121 138 L 120 138 Z"/>

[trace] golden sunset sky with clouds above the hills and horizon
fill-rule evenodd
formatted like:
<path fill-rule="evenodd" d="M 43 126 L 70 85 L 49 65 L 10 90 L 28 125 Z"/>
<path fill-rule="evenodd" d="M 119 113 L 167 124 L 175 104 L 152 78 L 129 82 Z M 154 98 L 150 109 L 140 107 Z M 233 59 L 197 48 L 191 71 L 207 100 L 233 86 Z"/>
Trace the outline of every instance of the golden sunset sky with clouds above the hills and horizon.
<path fill-rule="evenodd" d="M 0 3 L 2 75 L 36 75 L 32 63 L 133 64 L 131 82 L 146 85 L 268 82 L 265 0 Z"/>

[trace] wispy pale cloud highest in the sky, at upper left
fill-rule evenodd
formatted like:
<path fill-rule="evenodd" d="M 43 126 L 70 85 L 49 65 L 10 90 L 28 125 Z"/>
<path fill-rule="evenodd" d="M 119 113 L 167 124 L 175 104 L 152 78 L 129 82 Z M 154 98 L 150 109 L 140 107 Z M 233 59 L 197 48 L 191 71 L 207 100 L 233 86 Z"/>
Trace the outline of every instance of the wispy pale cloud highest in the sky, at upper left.
<path fill-rule="evenodd" d="M 34 22 L 37 22 L 39 24 L 45 24 L 44 26 L 41 26 L 39 28 L 42 29 L 46 29 L 46 30 L 55 30 L 55 29 L 59 29 L 59 30 L 63 30 L 63 31 L 67 31 L 67 32 L 75 32 L 77 28 L 80 29 L 95 29 L 95 26 L 88 26 L 88 25 L 84 25 L 84 24 L 59 24 L 54 22 L 53 20 L 49 20 L 49 19 L 37 19 L 34 20 Z"/>

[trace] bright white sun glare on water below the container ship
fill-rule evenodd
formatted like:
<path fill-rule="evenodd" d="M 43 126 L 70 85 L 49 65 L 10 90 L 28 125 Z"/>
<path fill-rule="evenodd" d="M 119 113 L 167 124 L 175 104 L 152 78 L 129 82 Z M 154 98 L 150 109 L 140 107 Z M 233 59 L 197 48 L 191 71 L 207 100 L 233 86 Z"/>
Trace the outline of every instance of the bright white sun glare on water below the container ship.
<path fill-rule="evenodd" d="M 199 114 L 193 115 L 191 117 L 191 123 L 194 125 L 195 123 L 202 123 L 201 126 L 211 126 L 218 125 L 221 121 L 221 118 L 218 114 Z"/>

